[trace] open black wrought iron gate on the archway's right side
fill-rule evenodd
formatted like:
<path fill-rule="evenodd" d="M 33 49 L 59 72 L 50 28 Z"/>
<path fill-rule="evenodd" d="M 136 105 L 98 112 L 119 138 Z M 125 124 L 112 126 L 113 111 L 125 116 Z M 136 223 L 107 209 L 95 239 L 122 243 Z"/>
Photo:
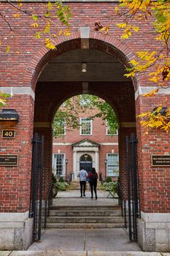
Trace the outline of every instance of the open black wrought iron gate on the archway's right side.
<path fill-rule="evenodd" d="M 140 218 L 139 178 L 137 171 L 136 136 L 126 136 L 126 171 L 128 176 L 129 239 L 137 241 L 137 218 Z"/>

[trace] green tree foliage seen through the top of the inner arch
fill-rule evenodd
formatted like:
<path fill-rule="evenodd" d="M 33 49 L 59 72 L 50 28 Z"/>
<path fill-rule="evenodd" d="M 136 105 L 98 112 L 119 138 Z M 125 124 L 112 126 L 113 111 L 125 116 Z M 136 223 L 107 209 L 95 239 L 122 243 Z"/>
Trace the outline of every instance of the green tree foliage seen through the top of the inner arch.
<path fill-rule="evenodd" d="M 80 113 L 89 113 L 88 110 L 96 110 L 94 115 L 88 118 L 101 118 L 104 124 L 107 121 L 111 134 L 117 129 L 117 117 L 112 106 L 97 96 L 90 94 L 82 94 L 67 99 L 58 111 L 55 113 L 53 120 L 53 135 L 56 137 L 62 134 L 63 124 L 66 124 L 66 130 L 80 128 Z"/>

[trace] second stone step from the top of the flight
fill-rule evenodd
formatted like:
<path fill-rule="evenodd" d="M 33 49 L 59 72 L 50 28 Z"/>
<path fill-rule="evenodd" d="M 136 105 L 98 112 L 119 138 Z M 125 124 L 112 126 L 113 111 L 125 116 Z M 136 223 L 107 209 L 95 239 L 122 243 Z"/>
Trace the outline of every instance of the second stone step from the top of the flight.
<path fill-rule="evenodd" d="M 72 217 L 72 216 L 120 216 L 120 210 L 113 211 L 63 211 L 63 210 L 53 210 L 50 211 L 50 216 L 63 216 L 63 217 Z"/>

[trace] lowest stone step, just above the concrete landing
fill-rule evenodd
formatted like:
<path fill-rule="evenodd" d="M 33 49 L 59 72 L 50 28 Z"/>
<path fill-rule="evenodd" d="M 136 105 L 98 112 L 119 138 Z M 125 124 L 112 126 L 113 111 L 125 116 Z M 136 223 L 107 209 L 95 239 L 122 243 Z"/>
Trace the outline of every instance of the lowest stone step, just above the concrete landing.
<path fill-rule="evenodd" d="M 124 223 L 47 223 L 47 228 L 118 228 Z"/>

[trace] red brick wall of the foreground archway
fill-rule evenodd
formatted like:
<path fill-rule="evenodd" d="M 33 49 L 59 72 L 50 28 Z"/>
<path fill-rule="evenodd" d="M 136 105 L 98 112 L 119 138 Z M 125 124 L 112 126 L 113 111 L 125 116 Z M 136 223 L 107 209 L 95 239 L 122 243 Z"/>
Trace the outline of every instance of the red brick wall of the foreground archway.
<path fill-rule="evenodd" d="M 69 3 L 73 13 L 71 20 L 72 34 L 69 37 L 55 39 L 58 50 L 54 52 L 41 47 L 42 41 L 32 37 L 32 29 L 28 26 L 32 23 L 32 20 L 29 20 L 24 14 L 22 15 L 23 20 L 13 18 L 15 10 L 9 7 L 9 4 L 1 3 L 1 10 L 7 13 L 8 20 L 16 32 L 16 37 L 13 37 L 7 23 L 1 23 L 1 35 L 3 35 L 3 38 L 7 36 L 7 40 L 4 40 L 5 45 L 12 42 L 11 52 L 9 54 L 1 53 L 1 86 L 31 86 L 33 89 L 36 87 L 34 121 L 52 121 L 53 114 L 61 105 L 61 102 L 82 92 L 80 83 L 73 82 L 64 84 L 66 91 L 62 90 L 63 83 L 55 83 L 55 86 L 53 83 L 38 83 L 36 86 L 39 72 L 42 71 L 50 59 L 67 50 L 80 48 L 80 26 L 90 26 L 90 48 L 102 50 L 104 53 L 115 56 L 125 65 L 130 59 L 134 59 L 137 50 L 156 50 L 160 47 L 160 42 L 150 43 L 154 42 L 153 35 L 149 33 L 152 31 L 150 19 L 146 21 L 146 24 L 142 21 L 139 24 L 141 29 L 139 33 L 123 42 L 117 40 L 117 36 L 120 35 L 118 29 L 111 29 L 107 36 L 94 32 L 93 27 L 96 20 L 100 20 L 102 24 L 106 25 L 107 17 L 115 9 L 115 5 L 117 3 Z M 45 9 L 45 4 L 25 3 L 23 8 L 25 7 L 26 9 L 35 7 L 36 10 L 41 12 Z M 107 11 L 105 12 L 105 10 Z M 117 21 L 121 21 L 120 18 L 119 20 L 115 19 L 115 23 Z M 134 23 L 136 23 L 135 20 Z M 143 36 L 144 31 L 148 32 L 148 36 Z M 138 76 L 137 80 L 134 81 L 135 89 L 139 85 L 153 86 L 154 84 L 146 80 L 146 74 L 144 74 Z M 106 99 L 117 111 L 117 116 L 121 122 L 135 121 L 134 88 L 132 83 L 89 83 L 90 92 Z M 54 93 L 55 90 L 56 93 Z M 136 101 L 136 113 L 152 110 L 162 99 L 164 100 L 164 97 L 160 94 L 152 99 L 139 97 Z M 168 102 L 166 102 L 166 105 L 168 105 Z M 1 211 L 27 211 L 31 178 L 34 104 L 30 97 L 23 95 L 13 97 L 9 103 L 10 108 L 18 110 L 20 115 L 20 122 L 16 126 L 18 137 L 15 140 L 10 140 L 10 142 L 1 139 L 1 154 L 4 154 L 3 148 L 6 148 L 5 154 L 11 152 L 12 154 L 19 154 L 19 165 L 18 167 L 1 167 L 0 178 L 2 182 L 0 186 L 3 203 L 0 209 Z M 137 121 L 137 136 L 139 140 L 139 180 L 142 211 L 170 211 L 169 168 L 150 166 L 150 154 L 169 153 L 169 148 L 167 148 L 169 146 L 169 134 L 153 130 L 144 136 L 144 130 Z M 47 138 L 50 138 L 49 134 Z M 22 142 L 25 140 L 28 143 Z M 155 141 L 155 144 L 150 143 L 150 141 Z M 47 151 L 47 148 L 45 150 Z M 120 159 L 124 156 L 124 153 L 122 151 Z M 51 159 L 48 159 L 46 166 L 50 165 L 50 162 Z M 122 163 L 121 165 L 123 167 Z"/>

